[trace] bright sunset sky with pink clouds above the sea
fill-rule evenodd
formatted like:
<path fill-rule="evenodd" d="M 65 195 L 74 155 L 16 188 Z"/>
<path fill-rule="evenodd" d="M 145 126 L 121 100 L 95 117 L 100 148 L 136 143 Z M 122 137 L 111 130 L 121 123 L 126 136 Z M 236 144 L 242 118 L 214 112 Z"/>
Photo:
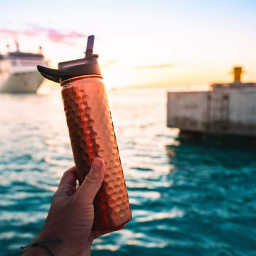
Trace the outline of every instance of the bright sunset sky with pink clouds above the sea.
<path fill-rule="evenodd" d="M 84 57 L 95 35 L 108 89 L 256 81 L 256 1 L 1 1 L 0 53 L 42 46 L 49 66 Z"/>

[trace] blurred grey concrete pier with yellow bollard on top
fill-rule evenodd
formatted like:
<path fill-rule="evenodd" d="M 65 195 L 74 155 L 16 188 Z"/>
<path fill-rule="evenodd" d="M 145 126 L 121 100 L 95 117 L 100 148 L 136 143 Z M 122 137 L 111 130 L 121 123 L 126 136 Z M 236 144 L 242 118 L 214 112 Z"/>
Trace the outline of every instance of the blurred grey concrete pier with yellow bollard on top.
<path fill-rule="evenodd" d="M 167 126 L 183 134 L 212 133 L 256 136 L 256 83 L 212 84 L 210 91 L 169 92 Z"/>

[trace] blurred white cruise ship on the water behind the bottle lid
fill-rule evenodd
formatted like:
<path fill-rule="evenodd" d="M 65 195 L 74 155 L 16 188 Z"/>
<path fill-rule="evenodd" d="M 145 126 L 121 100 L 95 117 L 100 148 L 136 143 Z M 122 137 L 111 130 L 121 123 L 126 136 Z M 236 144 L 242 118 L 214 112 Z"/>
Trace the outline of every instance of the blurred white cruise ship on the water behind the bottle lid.
<path fill-rule="evenodd" d="M 43 54 L 20 52 L 16 45 L 16 52 L 0 54 L 0 93 L 35 93 L 44 81 L 36 66 L 48 66 L 47 61 Z"/>

